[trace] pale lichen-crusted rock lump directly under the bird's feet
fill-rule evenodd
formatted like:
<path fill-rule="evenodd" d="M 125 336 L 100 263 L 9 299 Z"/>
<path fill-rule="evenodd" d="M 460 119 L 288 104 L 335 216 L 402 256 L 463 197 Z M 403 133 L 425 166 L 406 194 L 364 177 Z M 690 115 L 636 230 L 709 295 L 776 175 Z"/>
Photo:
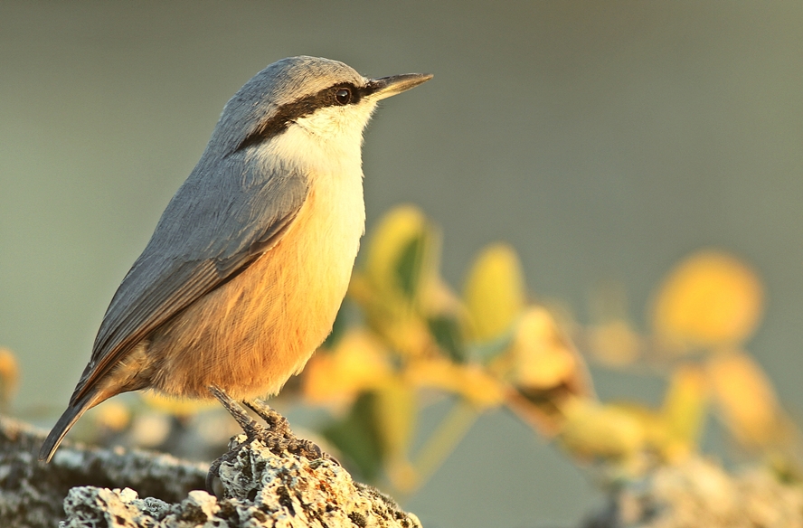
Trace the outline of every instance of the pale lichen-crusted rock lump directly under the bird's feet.
<path fill-rule="evenodd" d="M 244 436 L 233 438 L 240 445 Z M 222 496 L 191 491 L 179 504 L 141 499 L 131 489 L 91 486 L 71 489 L 62 528 L 203 528 L 348 526 L 420 528 L 418 518 L 392 499 L 355 483 L 326 458 L 277 456 L 259 440 L 241 444 L 219 470 Z"/>

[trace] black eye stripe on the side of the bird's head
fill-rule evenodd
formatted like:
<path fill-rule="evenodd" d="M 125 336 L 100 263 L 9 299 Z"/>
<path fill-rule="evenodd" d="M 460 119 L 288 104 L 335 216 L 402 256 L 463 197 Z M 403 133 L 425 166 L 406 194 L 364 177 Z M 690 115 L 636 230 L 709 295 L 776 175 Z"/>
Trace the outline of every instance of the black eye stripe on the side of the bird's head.
<path fill-rule="evenodd" d="M 341 102 L 337 97 L 338 92 L 341 90 L 348 90 L 350 93 L 350 97 L 345 103 Z M 339 83 L 312 95 L 308 95 L 307 97 L 284 104 L 277 108 L 276 112 L 267 121 L 262 123 L 260 127 L 245 137 L 240 145 L 237 146 L 235 152 L 247 146 L 266 141 L 270 137 L 277 136 L 279 133 L 283 132 L 290 123 L 298 118 L 303 118 L 312 114 L 318 108 L 354 105 L 359 103 L 364 96 L 370 94 L 372 91 L 370 87 L 356 86 L 351 82 Z"/>

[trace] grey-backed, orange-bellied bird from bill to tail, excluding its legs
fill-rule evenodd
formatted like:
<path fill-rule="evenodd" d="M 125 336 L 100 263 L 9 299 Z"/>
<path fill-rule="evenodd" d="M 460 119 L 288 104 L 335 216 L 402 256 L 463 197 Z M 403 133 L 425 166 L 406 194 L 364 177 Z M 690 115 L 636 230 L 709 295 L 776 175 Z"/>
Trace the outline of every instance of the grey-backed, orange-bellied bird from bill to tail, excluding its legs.
<path fill-rule="evenodd" d="M 253 401 L 300 372 L 332 330 L 364 234 L 364 127 L 381 99 L 431 78 L 298 56 L 248 80 L 112 297 L 40 460 L 122 392 L 225 406 L 221 394 Z"/>

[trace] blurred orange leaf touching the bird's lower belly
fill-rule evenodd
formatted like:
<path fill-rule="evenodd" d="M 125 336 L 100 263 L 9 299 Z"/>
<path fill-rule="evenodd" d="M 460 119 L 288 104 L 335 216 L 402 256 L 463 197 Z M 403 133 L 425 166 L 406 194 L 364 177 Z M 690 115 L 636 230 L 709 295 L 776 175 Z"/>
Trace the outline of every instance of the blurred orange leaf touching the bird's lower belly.
<path fill-rule="evenodd" d="M 347 405 L 360 392 L 382 386 L 390 375 L 383 345 L 367 332 L 350 330 L 334 350 L 321 350 L 307 363 L 304 396 L 313 404 Z"/>

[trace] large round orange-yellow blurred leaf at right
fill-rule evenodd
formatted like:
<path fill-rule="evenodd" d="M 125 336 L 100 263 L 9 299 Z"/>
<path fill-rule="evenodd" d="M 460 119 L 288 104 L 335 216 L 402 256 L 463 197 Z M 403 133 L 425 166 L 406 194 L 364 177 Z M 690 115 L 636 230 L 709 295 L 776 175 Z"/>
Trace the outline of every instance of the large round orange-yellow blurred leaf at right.
<path fill-rule="evenodd" d="M 665 279 L 653 323 L 658 335 L 678 347 L 738 344 L 758 325 L 762 299 L 750 268 L 727 253 L 704 250 Z"/>

